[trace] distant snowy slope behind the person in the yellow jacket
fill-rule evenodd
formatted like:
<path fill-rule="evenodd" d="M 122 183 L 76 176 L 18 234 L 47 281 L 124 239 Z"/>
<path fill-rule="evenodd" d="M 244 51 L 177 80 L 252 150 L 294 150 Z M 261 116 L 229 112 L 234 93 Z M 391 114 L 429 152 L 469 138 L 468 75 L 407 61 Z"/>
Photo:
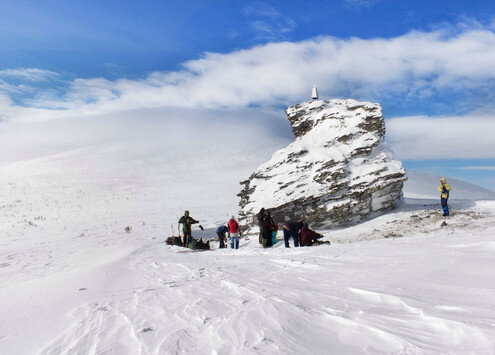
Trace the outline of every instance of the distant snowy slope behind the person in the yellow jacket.
<path fill-rule="evenodd" d="M 442 176 L 426 174 L 419 171 L 406 171 L 407 181 L 404 183 L 404 197 L 438 199 L 438 186 Z M 466 181 L 446 177 L 452 187 L 451 199 L 458 200 L 495 200 L 495 192 Z"/>

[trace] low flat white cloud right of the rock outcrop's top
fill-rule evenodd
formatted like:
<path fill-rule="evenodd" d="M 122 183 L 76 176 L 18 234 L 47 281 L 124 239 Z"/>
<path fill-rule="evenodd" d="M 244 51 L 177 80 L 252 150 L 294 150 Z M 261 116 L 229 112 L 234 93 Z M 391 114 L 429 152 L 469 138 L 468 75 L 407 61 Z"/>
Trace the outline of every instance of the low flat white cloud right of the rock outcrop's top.
<path fill-rule="evenodd" d="M 400 117 L 386 125 L 387 141 L 402 160 L 495 158 L 495 114 Z"/>

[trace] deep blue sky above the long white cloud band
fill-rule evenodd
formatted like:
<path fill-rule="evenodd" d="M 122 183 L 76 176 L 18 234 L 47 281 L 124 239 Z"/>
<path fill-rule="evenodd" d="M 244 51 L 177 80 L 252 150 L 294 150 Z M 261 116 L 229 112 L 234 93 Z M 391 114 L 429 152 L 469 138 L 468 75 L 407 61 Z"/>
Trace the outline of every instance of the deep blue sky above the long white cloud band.
<path fill-rule="evenodd" d="M 88 78 L 174 70 L 203 52 L 269 41 L 394 37 L 493 20 L 490 1 L 9 1 L 0 12 L 0 67 Z"/>

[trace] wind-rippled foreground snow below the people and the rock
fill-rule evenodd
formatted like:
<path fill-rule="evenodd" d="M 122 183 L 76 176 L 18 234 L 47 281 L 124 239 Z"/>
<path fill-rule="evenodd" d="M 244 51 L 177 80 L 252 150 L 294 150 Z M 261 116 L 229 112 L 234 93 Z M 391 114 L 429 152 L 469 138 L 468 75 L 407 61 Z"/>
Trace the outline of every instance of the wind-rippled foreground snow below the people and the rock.
<path fill-rule="evenodd" d="M 488 354 L 494 231 L 267 251 L 149 245 L 42 353 Z"/>

